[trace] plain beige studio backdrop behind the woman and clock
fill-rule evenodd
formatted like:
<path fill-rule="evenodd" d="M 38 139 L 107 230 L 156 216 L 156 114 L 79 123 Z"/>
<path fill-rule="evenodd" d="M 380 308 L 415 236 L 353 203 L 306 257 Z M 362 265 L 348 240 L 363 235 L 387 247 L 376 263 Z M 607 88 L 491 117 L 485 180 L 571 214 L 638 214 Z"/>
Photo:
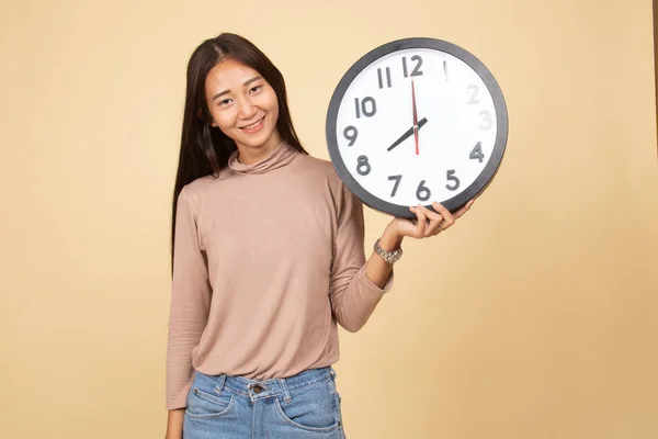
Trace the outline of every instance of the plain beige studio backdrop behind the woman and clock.
<path fill-rule="evenodd" d="M 281 68 L 319 157 L 333 87 L 390 40 L 462 45 L 507 99 L 495 183 L 341 333 L 350 439 L 658 437 L 649 0 L 4 0 L 0 436 L 163 436 L 184 71 L 222 31 Z"/>

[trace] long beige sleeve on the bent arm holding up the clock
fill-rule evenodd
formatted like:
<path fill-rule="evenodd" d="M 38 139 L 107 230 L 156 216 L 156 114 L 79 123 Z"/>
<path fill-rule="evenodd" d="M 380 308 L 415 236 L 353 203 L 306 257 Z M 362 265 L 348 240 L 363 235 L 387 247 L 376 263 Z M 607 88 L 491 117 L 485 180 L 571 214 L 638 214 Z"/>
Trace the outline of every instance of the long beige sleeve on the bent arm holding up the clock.
<path fill-rule="evenodd" d="M 393 272 L 383 289 L 365 273 L 363 204 L 339 184 L 337 234 L 329 297 L 337 322 L 355 333 L 365 325 L 383 295 L 393 288 Z"/>

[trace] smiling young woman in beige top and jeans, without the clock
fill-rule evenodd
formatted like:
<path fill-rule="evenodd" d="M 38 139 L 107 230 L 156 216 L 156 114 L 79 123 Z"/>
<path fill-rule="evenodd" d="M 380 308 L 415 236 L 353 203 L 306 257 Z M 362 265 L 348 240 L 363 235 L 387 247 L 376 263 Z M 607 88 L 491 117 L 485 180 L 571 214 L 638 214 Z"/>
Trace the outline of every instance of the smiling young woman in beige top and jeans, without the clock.
<path fill-rule="evenodd" d="M 179 160 L 167 437 L 344 438 L 337 325 L 363 327 L 404 237 L 473 201 L 409 207 L 417 221 L 393 218 L 366 261 L 362 203 L 304 149 L 281 72 L 235 34 L 192 54 Z"/>

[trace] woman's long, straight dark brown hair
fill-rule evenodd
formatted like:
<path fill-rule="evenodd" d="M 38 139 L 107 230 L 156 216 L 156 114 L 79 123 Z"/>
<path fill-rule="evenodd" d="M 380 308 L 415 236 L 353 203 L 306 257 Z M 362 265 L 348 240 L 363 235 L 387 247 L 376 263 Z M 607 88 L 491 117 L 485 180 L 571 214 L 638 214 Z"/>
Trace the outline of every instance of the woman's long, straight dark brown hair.
<path fill-rule="evenodd" d="M 219 176 L 228 158 L 237 149 L 235 142 L 218 127 L 211 126 L 212 116 L 205 95 L 205 79 L 213 67 L 226 58 L 240 61 L 258 71 L 274 89 L 279 101 L 276 130 L 282 140 L 303 154 L 308 154 L 295 133 L 287 105 L 285 81 L 281 71 L 253 43 L 247 38 L 223 33 L 204 41 L 192 53 L 188 63 L 188 83 L 179 166 L 173 189 L 171 212 L 171 267 L 175 240 L 178 198 L 185 184 L 205 176 Z"/>

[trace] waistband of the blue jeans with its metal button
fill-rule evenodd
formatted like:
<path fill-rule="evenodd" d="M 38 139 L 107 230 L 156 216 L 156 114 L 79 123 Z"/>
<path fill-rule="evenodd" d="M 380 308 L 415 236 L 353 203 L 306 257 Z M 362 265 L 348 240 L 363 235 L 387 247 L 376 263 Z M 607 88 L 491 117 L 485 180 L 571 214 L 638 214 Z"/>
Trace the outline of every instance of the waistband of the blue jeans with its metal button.
<path fill-rule="evenodd" d="M 336 376 L 336 371 L 328 365 L 320 369 L 305 370 L 288 378 L 272 378 L 269 380 L 251 380 L 224 374 L 209 378 L 216 382 L 216 391 L 227 389 L 252 401 L 283 395 L 287 401 L 291 398 L 290 391 L 327 381 L 332 376 Z"/>

